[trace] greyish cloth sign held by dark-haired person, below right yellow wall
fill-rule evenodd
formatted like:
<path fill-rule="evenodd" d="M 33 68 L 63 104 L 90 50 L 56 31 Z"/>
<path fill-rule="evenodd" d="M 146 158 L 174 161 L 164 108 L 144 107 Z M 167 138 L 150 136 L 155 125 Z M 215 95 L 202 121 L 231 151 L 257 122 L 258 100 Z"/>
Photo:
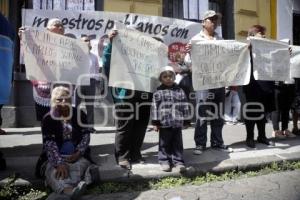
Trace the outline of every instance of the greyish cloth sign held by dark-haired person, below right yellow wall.
<path fill-rule="evenodd" d="M 264 38 L 250 38 L 255 80 L 290 80 L 289 45 Z"/>

